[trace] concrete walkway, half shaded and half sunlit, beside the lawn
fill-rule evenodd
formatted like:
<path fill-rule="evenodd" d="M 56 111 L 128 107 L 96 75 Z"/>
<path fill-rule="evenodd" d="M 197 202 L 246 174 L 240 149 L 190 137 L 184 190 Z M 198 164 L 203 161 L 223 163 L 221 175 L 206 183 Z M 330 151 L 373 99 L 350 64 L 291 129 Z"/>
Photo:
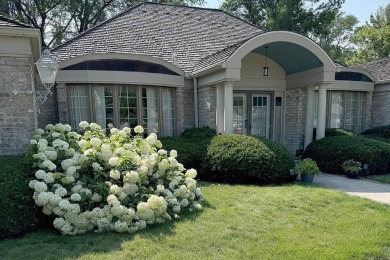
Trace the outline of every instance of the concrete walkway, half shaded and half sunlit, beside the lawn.
<path fill-rule="evenodd" d="M 321 173 L 314 176 L 314 185 L 340 190 L 353 196 L 390 204 L 390 185 L 366 179 L 349 179 L 345 176 Z"/>

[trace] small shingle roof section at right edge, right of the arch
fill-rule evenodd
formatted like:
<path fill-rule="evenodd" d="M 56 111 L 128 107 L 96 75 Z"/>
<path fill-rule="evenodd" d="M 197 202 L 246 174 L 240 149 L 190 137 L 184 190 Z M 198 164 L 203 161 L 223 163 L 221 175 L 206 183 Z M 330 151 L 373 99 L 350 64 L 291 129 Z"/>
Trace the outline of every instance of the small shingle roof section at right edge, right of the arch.
<path fill-rule="evenodd" d="M 376 82 L 390 80 L 390 58 L 355 64 L 351 67 L 368 71 Z"/>

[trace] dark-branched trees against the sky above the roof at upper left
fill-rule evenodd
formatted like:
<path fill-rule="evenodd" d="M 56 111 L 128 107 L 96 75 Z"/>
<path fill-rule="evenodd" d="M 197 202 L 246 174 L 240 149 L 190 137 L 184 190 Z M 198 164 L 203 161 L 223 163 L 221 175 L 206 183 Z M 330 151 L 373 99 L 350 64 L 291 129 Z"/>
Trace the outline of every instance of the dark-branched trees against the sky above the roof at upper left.
<path fill-rule="evenodd" d="M 39 29 L 42 45 L 48 47 L 142 2 L 204 4 L 204 0 L 0 0 L 0 13 Z"/>

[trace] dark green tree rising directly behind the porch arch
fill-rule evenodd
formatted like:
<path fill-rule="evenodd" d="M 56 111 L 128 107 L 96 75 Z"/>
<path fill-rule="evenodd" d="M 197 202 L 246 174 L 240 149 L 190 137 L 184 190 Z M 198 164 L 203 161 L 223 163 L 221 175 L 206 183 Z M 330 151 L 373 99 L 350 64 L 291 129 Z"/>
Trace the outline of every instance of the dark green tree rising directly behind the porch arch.
<path fill-rule="evenodd" d="M 327 35 L 345 0 L 225 0 L 221 9 L 268 31 Z"/>

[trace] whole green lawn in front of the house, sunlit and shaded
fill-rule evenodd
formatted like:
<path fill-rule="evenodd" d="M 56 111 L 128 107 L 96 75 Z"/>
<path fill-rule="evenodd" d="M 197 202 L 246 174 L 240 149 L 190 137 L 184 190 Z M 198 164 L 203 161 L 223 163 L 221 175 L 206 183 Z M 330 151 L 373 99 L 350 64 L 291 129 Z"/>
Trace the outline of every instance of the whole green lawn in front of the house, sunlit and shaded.
<path fill-rule="evenodd" d="M 317 187 L 204 183 L 202 213 L 132 234 L 40 232 L 1 259 L 383 259 L 390 206 Z"/>

